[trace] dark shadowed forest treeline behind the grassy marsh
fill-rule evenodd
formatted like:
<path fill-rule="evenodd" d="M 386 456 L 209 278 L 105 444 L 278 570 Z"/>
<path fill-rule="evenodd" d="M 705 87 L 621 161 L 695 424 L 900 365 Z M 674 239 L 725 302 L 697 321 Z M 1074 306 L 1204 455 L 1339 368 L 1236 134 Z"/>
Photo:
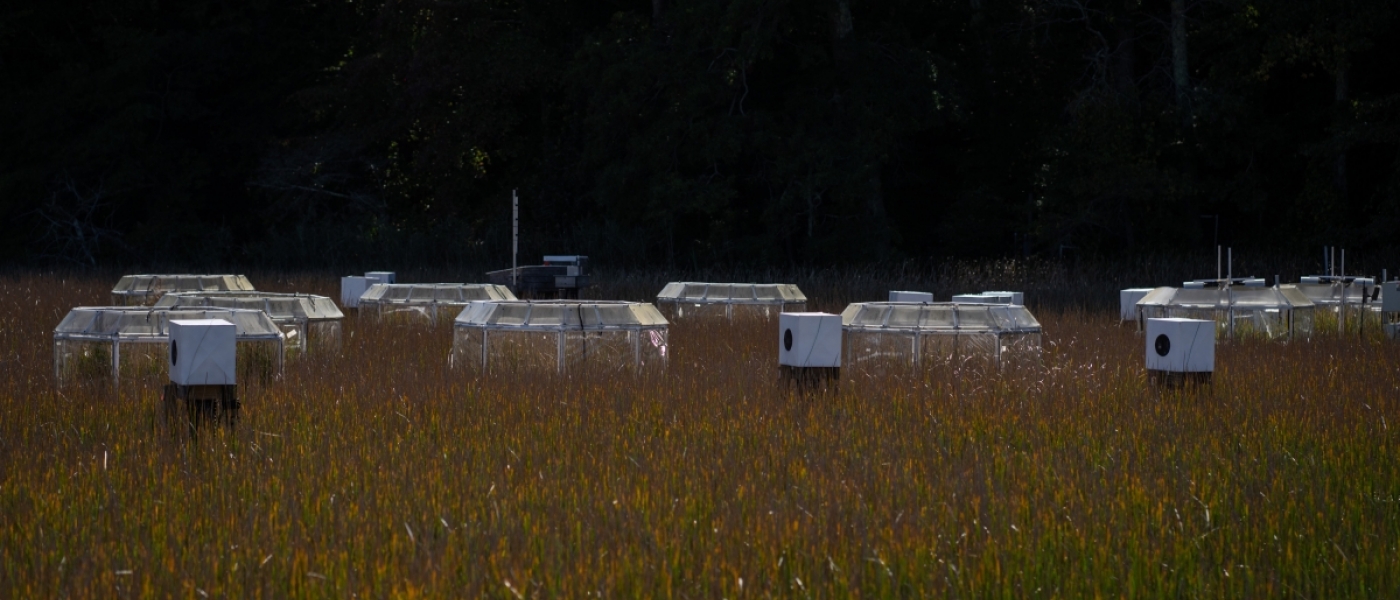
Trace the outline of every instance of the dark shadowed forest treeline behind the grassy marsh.
<path fill-rule="evenodd" d="M 25 4 L 25 6 L 17 6 Z M 0 260 L 1390 253 L 1394 0 L 0 10 Z M 1320 250 L 1319 250 L 1320 252 Z"/>

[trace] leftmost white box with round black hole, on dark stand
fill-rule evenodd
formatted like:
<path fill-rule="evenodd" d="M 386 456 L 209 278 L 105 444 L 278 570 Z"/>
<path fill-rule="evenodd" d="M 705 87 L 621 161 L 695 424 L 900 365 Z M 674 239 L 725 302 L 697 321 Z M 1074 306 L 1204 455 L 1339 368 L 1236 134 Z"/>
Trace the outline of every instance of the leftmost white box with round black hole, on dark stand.
<path fill-rule="evenodd" d="M 238 327 L 223 319 L 171 320 L 171 382 L 182 386 L 231 386 L 237 379 Z"/>

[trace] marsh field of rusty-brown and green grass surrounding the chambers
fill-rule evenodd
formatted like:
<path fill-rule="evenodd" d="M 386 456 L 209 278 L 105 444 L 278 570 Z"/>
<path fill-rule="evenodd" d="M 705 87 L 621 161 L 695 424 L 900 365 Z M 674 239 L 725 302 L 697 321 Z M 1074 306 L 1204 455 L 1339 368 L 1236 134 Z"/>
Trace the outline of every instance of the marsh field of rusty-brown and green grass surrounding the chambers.
<path fill-rule="evenodd" d="M 829 312 L 910 277 L 791 274 Z M 449 371 L 449 323 L 347 313 L 339 355 L 190 429 L 160 380 L 56 386 L 53 327 L 115 280 L 0 276 L 0 597 L 1400 597 L 1375 337 L 1222 341 L 1214 383 L 1156 389 L 1116 295 L 1085 299 L 1128 283 L 1064 280 L 1028 290 L 1040 365 L 799 393 L 776 323 L 672 323 L 664 373 L 510 378 Z"/>

